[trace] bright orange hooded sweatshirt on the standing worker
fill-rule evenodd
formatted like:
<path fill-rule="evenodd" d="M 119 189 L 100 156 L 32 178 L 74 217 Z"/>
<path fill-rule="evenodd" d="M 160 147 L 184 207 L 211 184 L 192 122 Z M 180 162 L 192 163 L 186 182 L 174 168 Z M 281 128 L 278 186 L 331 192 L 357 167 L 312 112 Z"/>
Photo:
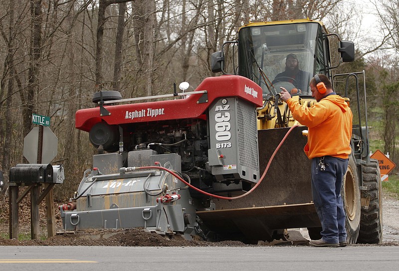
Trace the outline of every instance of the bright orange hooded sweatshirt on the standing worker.
<path fill-rule="evenodd" d="M 330 94 L 312 107 L 287 100 L 292 116 L 309 128 L 304 151 L 309 159 L 330 155 L 346 159 L 351 154 L 352 111 L 339 95 Z"/>

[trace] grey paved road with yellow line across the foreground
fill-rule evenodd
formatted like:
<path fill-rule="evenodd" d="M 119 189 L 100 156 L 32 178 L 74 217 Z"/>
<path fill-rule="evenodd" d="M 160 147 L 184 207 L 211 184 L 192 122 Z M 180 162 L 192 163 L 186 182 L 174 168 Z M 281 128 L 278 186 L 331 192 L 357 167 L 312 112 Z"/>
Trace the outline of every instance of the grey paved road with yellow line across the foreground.
<path fill-rule="evenodd" d="M 398 270 L 399 247 L 0 247 L 6 271 Z"/>

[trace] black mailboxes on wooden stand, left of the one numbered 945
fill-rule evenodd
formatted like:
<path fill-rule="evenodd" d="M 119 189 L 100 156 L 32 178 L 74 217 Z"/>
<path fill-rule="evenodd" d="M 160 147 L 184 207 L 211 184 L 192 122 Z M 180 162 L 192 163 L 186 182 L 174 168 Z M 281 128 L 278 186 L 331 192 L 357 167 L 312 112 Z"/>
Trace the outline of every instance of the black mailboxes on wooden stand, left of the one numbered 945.
<path fill-rule="evenodd" d="M 15 183 L 52 182 L 51 164 L 17 164 L 9 170 L 9 181 Z"/>

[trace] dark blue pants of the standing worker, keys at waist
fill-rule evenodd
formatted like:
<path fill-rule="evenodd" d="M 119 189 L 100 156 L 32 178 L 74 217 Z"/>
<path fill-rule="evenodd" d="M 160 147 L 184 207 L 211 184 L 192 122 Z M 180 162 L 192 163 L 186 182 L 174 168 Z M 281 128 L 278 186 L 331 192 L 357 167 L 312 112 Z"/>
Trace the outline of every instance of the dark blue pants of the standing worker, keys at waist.
<path fill-rule="evenodd" d="M 341 186 L 348 159 L 324 156 L 325 170 L 320 170 L 320 157 L 312 159 L 313 203 L 320 218 L 322 240 L 327 243 L 346 241 L 345 210 Z"/>

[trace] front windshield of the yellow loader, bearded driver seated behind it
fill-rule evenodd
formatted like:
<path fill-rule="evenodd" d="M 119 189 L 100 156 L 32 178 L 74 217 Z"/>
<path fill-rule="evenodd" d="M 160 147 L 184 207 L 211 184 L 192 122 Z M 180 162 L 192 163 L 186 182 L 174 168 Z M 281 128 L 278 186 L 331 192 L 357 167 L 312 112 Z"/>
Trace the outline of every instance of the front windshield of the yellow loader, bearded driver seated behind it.
<path fill-rule="evenodd" d="M 310 79 L 316 72 L 326 73 L 328 58 L 318 23 L 255 24 L 239 31 L 238 74 L 260 85 L 263 94 L 271 94 L 270 81 L 276 89 L 296 88 L 295 95 L 311 96 Z"/>

